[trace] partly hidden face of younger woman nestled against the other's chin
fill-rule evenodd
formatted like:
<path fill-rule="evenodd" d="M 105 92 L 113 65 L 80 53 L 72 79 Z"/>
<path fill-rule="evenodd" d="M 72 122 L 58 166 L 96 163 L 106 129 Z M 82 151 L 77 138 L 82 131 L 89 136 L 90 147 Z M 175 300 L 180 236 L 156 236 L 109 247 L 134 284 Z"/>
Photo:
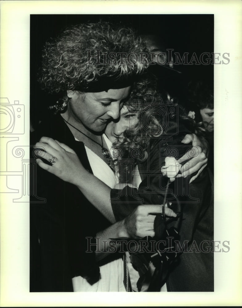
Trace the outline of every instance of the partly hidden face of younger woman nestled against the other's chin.
<path fill-rule="evenodd" d="M 110 122 L 105 130 L 105 134 L 109 140 L 114 143 L 117 138 L 121 138 L 123 132 L 135 126 L 139 121 L 138 113 L 130 112 L 126 106 L 120 111 L 120 119 L 118 121 Z"/>

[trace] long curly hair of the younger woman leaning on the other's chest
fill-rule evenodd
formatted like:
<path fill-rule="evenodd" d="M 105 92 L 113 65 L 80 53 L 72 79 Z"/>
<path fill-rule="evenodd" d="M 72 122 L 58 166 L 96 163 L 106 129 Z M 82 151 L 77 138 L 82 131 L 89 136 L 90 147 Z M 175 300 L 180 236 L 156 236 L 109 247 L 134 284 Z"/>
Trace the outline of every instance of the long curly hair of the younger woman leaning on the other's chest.
<path fill-rule="evenodd" d="M 160 99 L 156 89 L 156 79 L 143 75 L 142 79 L 134 83 L 129 100 L 125 103 L 130 112 L 138 115 L 139 121 L 127 129 L 112 147 L 113 167 L 119 169 L 122 183 L 128 183 L 132 178 L 130 165 L 125 162 L 131 158 L 131 164 L 135 166 L 145 161 L 150 138 L 162 134 L 162 126 L 155 111 L 155 103 Z"/>

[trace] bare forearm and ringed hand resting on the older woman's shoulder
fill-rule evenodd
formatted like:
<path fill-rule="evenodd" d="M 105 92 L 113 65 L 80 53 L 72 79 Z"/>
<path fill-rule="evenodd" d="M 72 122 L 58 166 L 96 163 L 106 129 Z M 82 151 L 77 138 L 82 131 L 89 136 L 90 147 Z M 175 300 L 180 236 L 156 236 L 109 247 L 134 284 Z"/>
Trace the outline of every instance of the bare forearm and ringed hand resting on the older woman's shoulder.
<path fill-rule="evenodd" d="M 71 148 L 48 137 L 42 137 L 40 142 L 36 143 L 35 148 L 41 150 L 39 156 L 47 161 L 52 159 L 53 156 L 55 157 L 55 162 L 52 165 L 37 159 L 36 162 L 41 168 L 66 182 L 76 185 L 88 201 L 110 222 L 115 222 L 110 203 L 111 188 L 88 172 Z"/>

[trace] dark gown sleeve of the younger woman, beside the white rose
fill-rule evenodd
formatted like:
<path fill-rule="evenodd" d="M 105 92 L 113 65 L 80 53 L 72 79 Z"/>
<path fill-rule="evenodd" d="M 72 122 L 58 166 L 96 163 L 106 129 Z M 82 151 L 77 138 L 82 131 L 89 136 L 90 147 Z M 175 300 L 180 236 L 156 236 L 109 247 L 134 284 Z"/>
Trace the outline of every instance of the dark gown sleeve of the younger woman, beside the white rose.
<path fill-rule="evenodd" d="M 166 156 L 174 156 L 179 159 L 191 144 L 182 144 L 184 136 L 189 133 L 185 123 L 179 123 L 179 131 L 176 132 L 176 124 L 170 124 L 170 130 L 160 138 L 151 140 L 148 159 L 143 164 L 142 183 L 138 190 L 126 186 L 122 190 L 111 191 L 112 209 L 116 220 L 128 216 L 140 204 L 163 204 L 164 198 L 172 202 L 171 209 L 175 213 L 181 212 L 181 204 L 187 201 L 186 189 L 189 186 L 189 177 L 176 178 L 170 183 L 167 176 L 163 176 L 161 167 L 165 165 Z M 169 186 L 168 186 L 169 184 Z M 179 191 L 178 191 L 179 189 Z M 176 226 L 180 226 L 182 218 L 177 219 Z"/>

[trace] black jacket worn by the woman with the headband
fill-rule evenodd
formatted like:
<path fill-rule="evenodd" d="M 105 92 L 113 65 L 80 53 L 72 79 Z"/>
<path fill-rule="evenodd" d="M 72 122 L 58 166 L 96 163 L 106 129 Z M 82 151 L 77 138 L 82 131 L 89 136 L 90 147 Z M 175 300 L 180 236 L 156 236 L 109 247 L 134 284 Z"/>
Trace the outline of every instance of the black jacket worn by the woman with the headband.
<path fill-rule="evenodd" d="M 42 136 L 67 144 L 92 172 L 84 144 L 73 137 L 60 115 L 48 116 L 31 133 L 31 145 Z M 33 151 L 31 148 L 31 156 Z M 32 160 L 30 204 L 30 291 L 73 291 L 72 278 L 99 279 L 95 245 L 87 237 L 107 228 L 109 221 L 70 183 L 43 170 Z M 46 161 L 45 161 L 46 162 Z M 35 171 L 36 169 L 36 171 Z M 100 196 L 101 198 L 102 196 Z M 40 202 L 40 198 L 45 202 Z M 95 243 L 95 240 L 94 242 Z"/>

